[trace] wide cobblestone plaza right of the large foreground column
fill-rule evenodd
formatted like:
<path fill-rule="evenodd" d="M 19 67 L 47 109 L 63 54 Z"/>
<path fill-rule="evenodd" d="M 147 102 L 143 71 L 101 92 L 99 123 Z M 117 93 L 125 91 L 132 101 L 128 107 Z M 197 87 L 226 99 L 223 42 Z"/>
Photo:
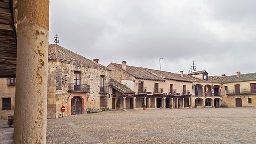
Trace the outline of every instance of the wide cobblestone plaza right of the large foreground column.
<path fill-rule="evenodd" d="M 47 143 L 256 143 L 256 108 L 104 111 L 47 122 Z"/>

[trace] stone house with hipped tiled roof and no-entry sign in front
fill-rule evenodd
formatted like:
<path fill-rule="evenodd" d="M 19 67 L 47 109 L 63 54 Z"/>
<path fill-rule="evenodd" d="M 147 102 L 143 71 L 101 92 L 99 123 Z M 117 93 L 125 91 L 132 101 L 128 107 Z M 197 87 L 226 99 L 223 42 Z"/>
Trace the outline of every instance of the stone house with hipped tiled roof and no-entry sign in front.
<path fill-rule="evenodd" d="M 59 45 L 49 45 L 47 118 L 111 108 L 110 70 Z"/>

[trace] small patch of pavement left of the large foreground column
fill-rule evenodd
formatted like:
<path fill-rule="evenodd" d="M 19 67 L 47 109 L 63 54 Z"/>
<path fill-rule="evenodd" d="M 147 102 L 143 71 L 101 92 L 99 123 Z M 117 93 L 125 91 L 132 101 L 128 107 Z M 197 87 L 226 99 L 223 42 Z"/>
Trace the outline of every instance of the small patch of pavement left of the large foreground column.
<path fill-rule="evenodd" d="M 13 143 L 14 127 L 9 127 L 7 120 L 0 120 L 0 144 Z"/>

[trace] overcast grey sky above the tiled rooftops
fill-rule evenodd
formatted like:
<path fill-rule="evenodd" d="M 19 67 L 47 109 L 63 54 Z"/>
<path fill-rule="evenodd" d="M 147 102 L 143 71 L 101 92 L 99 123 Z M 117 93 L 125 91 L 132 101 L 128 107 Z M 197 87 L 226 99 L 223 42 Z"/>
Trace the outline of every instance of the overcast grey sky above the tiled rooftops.
<path fill-rule="evenodd" d="M 209 75 L 256 72 L 256 1 L 52 0 L 49 43 L 89 59 Z"/>

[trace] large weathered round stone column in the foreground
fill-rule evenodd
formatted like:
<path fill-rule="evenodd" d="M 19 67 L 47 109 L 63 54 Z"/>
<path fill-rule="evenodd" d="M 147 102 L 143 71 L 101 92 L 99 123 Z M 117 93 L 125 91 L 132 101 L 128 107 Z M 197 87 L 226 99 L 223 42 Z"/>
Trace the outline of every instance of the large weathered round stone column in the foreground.
<path fill-rule="evenodd" d="M 19 0 L 14 143 L 46 143 L 49 0 Z"/>

